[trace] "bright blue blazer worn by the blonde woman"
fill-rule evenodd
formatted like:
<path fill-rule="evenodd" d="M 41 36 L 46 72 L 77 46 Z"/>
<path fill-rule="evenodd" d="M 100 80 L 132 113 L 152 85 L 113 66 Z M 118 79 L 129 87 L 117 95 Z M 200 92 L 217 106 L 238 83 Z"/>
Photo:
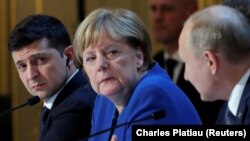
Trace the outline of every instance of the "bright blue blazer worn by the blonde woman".
<path fill-rule="evenodd" d="M 159 120 L 149 119 L 136 124 L 201 124 L 200 118 L 186 95 L 171 81 L 158 64 L 138 82 L 130 100 L 117 118 L 117 125 L 142 119 L 153 112 L 164 110 L 166 116 Z M 92 117 L 91 134 L 111 127 L 116 111 L 107 98 L 97 96 Z M 94 136 L 89 141 L 107 141 L 110 132 Z M 119 141 L 132 140 L 131 125 L 116 128 Z"/>

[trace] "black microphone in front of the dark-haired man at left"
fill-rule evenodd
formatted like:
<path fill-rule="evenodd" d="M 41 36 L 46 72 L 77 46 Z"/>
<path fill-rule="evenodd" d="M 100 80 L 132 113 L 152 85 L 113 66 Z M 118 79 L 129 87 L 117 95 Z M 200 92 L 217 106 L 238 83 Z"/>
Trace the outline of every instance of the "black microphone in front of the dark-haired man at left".
<path fill-rule="evenodd" d="M 12 111 L 14 111 L 14 110 L 16 110 L 16 109 L 19 109 L 19 108 L 22 108 L 22 107 L 24 107 L 24 106 L 26 106 L 26 105 L 33 106 L 33 105 L 35 105 L 35 104 L 37 104 L 37 103 L 39 103 L 39 102 L 40 102 L 39 96 L 33 96 L 33 97 L 29 98 L 29 99 L 28 99 L 25 103 L 23 103 L 22 105 L 19 105 L 19 106 L 13 108 L 13 109 L 10 109 L 10 110 L 7 110 L 7 111 L 5 111 L 5 112 L 0 113 L 0 117 L 5 116 L 5 115 L 11 113 Z"/>

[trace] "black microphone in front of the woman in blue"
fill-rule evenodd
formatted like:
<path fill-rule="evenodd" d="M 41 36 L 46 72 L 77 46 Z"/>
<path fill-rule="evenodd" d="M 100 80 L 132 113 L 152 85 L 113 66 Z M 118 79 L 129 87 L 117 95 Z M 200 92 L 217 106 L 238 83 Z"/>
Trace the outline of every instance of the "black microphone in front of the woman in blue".
<path fill-rule="evenodd" d="M 121 124 L 118 124 L 114 127 L 111 127 L 111 128 L 107 128 L 107 129 L 104 129 L 104 130 L 101 130 L 99 132 L 96 132 L 94 134 L 91 134 L 89 137 L 87 137 L 86 139 L 89 139 L 91 137 L 94 137 L 94 136 L 97 136 L 97 135 L 100 135 L 102 133 L 105 133 L 105 132 L 108 132 L 108 131 L 111 131 L 111 130 L 114 130 L 118 127 L 121 127 L 121 126 L 124 126 L 124 125 L 128 125 L 128 124 L 132 124 L 132 123 L 136 123 L 136 122 L 140 122 L 140 121 L 144 121 L 144 120 L 148 120 L 148 119 L 154 119 L 154 120 L 159 120 L 159 119 L 162 119 L 166 116 L 166 113 L 164 110 L 158 110 L 158 111 L 155 111 L 153 112 L 151 115 L 149 116 L 146 116 L 142 119 L 137 119 L 137 120 L 132 120 L 132 121 L 129 121 L 129 122 L 125 122 L 125 123 L 121 123 Z"/>

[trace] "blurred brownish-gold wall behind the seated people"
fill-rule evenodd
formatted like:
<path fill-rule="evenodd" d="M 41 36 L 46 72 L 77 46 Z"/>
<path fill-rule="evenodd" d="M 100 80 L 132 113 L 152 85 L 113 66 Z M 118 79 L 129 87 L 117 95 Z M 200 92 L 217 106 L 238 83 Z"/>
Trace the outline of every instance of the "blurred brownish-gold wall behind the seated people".
<path fill-rule="evenodd" d="M 223 0 L 198 0 L 199 8 Z M 73 39 L 79 23 L 98 7 L 127 8 L 137 13 L 150 30 L 150 0 L 0 0 L 0 112 L 26 101 L 30 94 L 21 83 L 7 50 L 8 35 L 22 18 L 43 13 L 59 18 Z M 154 52 L 161 49 L 153 40 Z M 1 141 L 36 141 L 42 102 L 0 117 Z"/>

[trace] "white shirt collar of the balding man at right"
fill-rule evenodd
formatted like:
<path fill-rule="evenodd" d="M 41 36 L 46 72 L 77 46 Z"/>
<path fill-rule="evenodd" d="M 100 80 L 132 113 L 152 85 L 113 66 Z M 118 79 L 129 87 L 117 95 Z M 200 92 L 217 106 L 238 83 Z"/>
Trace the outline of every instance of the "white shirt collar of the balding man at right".
<path fill-rule="evenodd" d="M 228 107 L 229 110 L 232 112 L 234 116 L 237 115 L 237 110 L 240 104 L 240 99 L 243 93 L 243 90 L 246 86 L 247 80 L 250 76 L 250 68 L 248 71 L 243 75 L 243 77 L 240 79 L 240 81 L 235 85 L 233 88 L 229 100 L 228 100 Z"/>

